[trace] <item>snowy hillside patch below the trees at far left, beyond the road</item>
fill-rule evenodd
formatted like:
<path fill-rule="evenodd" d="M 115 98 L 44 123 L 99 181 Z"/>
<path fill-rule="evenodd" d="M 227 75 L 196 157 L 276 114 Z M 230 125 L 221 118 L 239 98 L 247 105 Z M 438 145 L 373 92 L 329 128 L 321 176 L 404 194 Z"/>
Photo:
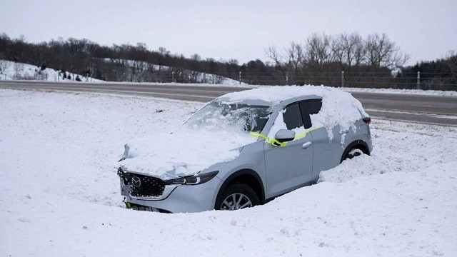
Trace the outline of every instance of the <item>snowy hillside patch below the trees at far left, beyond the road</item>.
<path fill-rule="evenodd" d="M 0 74 L 1 80 L 39 80 L 39 81 L 59 81 L 59 82 L 71 82 L 76 81 L 76 76 L 81 78 L 81 82 L 104 82 L 99 79 L 94 79 L 87 76 L 82 76 L 79 74 L 73 74 L 66 72 L 67 77 L 70 76 L 71 79 L 62 79 L 62 74 L 60 71 L 55 69 L 46 68 L 44 71 L 41 71 L 40 67 L 34 66 L 31 64 L 23 64 L 14 61 L 5 61 L 1 60 L 0 62 L 6 63 L 7 69 Z"/>

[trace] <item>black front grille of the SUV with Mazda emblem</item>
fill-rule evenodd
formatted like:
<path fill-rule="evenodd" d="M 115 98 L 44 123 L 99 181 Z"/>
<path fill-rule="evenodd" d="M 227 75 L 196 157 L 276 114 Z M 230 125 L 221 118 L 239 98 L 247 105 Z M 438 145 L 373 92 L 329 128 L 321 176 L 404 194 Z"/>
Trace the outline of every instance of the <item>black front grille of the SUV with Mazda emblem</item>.
<path fill-rule="evenodd" d="M 125 185 L 131 185 L 131 196 L 133 197 L 157 197 L 164 193 L 166 182 L 160 178 L 152 176 L 144 176 L 135 173 L 124 172 L 120 168 L 118 170 L 119 176 L 124 181 Z M 140 186 L 134 186 L 132 178 L 139 178 L 141 181 Z"/>

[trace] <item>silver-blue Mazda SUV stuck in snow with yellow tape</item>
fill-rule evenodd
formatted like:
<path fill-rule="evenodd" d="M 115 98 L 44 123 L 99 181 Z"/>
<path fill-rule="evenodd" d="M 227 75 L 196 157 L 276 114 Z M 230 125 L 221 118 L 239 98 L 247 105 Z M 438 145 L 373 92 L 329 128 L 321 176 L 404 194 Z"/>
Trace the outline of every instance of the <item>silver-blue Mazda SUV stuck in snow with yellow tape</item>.
<path fill-rule="evenodd" d="M 325 86 L 274 86 L 221 96 L 173 133 L 125 145 L 128 208 L 166 213 L 256 206 L 318 181 L 372 150 L 361 103 Z"/>

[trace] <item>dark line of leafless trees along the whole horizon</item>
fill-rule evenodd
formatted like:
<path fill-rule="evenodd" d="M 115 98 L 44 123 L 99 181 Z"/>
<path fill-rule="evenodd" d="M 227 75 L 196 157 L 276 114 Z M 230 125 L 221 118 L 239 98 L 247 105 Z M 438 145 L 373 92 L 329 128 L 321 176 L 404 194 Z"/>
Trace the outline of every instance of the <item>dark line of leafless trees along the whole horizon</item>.
<path fill-rule="evenodd" d="M 417 71 L 428 89 L 456 90 L 456 54 L 405 67 L 403 54 L 386 34 L 311 34 L 285 49 L 269 46 L 268 61 L 238 64 L 236 59 L 202 59 L 171 54 L 144 43 L 101 46 L 88 39 L 29 43 L 24 36 L 0 34 L 0 59 L 50 67 L 105 81 L 218 83 L 224 77 L 247 84 L 325 84 L 376 88 L 415 88 Z M 1 72 L 1 71 L 0 71 Z M 212 81 L 201 74 L 213 74 Z"/>

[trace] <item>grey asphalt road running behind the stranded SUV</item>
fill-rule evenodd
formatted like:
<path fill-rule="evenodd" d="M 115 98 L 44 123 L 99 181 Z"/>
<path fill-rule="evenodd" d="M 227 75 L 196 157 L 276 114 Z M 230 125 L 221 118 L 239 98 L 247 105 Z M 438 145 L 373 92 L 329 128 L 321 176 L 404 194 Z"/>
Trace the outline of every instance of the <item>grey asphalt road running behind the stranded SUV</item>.
<path fill-rule="evenodd" d="M 37 81 L 0 81 L 0 88 L 44 91 L 97 92 L 153 96 L 186 101 L 211 101 L 233 91 L 250 88 L 230 86 L 176 86 L 156 84 L 83 84 Z M 425 124 L 457 126 L 457 97 L 408 94 L 352 93 L 373 119 L 393 119 Z"/>

